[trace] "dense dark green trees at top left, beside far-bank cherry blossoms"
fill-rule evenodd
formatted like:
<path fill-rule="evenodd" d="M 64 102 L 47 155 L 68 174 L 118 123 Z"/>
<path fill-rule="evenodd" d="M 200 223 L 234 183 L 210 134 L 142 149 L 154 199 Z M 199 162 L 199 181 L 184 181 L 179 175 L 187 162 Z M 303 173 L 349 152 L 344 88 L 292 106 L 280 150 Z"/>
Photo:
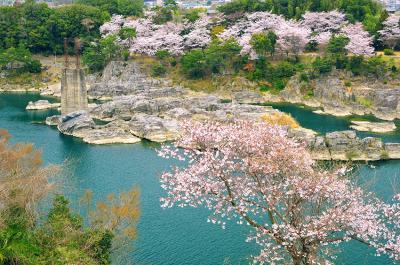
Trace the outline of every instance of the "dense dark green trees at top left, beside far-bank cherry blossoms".
<path fill-rule="evenodd" d="M 0 7 L 0 50 L 23 46 L 33 53 L 62 53 L 64 38 L 91 42 L 100 37 L 99 27 L 111 14 L 137 16 L 143 5 L 143 0 L 77 0 L 50 8 L 28 0 Z"/>

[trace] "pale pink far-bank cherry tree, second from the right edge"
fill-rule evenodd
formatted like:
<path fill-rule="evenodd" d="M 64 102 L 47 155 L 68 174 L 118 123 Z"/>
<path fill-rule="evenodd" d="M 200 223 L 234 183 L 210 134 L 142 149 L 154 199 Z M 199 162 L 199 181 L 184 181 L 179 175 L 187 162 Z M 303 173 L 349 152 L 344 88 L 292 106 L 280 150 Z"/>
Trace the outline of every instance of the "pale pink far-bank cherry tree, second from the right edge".
<path fill-rule="evenodd" d="M 361 23 L 349 24 L 341 32 L 349 38 L 346 50 L 355 55 L 372 55 L 375 51 L 372 37 Z"/>

